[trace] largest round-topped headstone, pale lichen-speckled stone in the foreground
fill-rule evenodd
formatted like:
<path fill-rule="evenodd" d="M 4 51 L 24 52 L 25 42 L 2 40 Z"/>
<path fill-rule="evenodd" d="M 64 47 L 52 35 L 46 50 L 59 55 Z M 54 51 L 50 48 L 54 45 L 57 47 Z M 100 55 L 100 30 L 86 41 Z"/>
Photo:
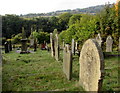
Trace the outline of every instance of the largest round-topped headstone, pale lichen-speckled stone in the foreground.
<path fill-rule="evenodd" d="M 95 39 L 87 40 L 80 53 L 79 84 L 86 91 L 100 91 L 104 75 L 104 58 Z"/>

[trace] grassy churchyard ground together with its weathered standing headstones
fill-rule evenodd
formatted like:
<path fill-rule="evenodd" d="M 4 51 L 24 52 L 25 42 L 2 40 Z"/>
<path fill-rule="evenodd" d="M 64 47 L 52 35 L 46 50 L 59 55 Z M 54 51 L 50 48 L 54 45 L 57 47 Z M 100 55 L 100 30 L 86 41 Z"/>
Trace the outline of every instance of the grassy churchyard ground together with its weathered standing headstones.
<path fill-rule="evenodd" d="M 36 51 L 24 48 L 22 41 L 20 50 L 15 48 L 8 53 L 9 48 L 5 47 L 2 51 L 3 91 L 119 91 L 120 54 L 112 51 L 109 38 L 106 52 L 102 51 L 97 37 L 88 39 L 80 54 L 75 53 L 74 39 L 71 46 L 61 45 L 60 49 L 58 35 L 53 38 L 52 33 L 50 51 L 39 46 Z"/>

